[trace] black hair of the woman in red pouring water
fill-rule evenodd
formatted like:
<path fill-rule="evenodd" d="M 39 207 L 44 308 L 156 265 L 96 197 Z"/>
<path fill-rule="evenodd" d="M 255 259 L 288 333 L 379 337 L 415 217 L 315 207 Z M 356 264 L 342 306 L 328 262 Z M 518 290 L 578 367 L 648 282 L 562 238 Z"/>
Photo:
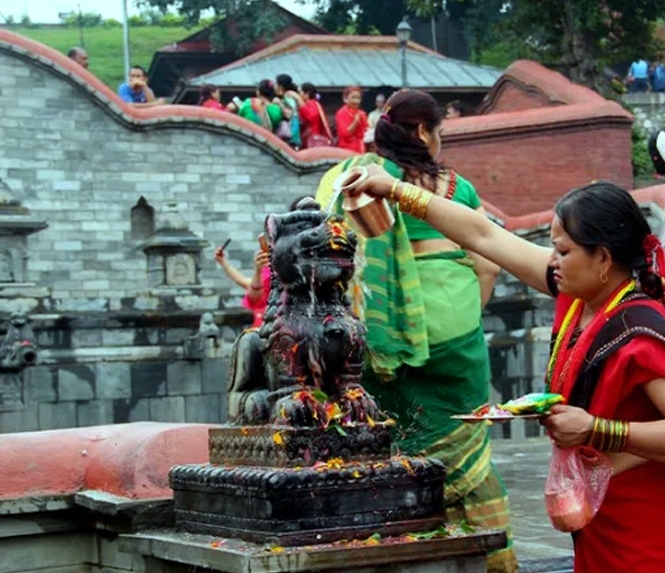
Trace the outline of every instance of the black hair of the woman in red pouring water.
<path fill-rule="evenodd" d="M 628 191 L 596 181 L 566 193 L 554 212 L 573 241 L 589 253 L 605 247 L 617 264 L 637 275 L 647 295 L 662 300 L 662 281 L 651 272 L 644 251 L 651 227 Z"/>

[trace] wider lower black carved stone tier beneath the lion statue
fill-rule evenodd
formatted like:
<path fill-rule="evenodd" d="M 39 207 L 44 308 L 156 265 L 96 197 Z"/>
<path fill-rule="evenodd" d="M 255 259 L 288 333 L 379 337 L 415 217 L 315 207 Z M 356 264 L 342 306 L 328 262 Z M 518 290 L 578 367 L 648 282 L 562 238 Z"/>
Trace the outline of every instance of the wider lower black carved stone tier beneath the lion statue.
<path fill-rule="evenodd" d="M 435 529 L 444 522 L 437 460 L 267 468 L 175 466 L 176 528 L 256 543 L 307 545 Z"/>

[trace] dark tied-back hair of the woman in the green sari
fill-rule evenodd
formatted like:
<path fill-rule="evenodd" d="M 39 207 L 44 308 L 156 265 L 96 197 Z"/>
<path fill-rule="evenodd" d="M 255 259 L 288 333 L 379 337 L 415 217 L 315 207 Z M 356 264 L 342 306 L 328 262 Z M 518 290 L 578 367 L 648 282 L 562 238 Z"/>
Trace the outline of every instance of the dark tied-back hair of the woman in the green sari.
<path fill-rule="evenodd" d="M 435 186 L 443 166 L 432 158 L 427 145 L 418 137 L 418 126 L 423 124 L 430 132 L 439 126 L 443 112 L 437 101 L 422 91 L 402 90 L 390 96 L 384 110 L 374 129 L 379 155 L 406 173 L 429 175 L 431 185 Z"/>

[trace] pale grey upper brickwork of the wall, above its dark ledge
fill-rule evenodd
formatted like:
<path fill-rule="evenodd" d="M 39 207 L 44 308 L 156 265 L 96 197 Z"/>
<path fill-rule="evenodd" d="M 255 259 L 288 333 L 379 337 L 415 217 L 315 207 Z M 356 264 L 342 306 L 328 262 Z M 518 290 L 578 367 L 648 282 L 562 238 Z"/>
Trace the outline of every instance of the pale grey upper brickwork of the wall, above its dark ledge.
<path fill-rule="evenodd" d="M 165 117 L 119 108 L 99 82 L 84 82 L 90 74 L 73 76 L 37 56 L 0 49 L 0 179 L 48 222 L 29 239 L 28 279 L 51 290 L 50 310 L 157 304 L 147 292 L 145 234 L 137 218 L 132 224 L 142 198 L 157 221 L 175 204 L 191 232 L 209 242 L 201 296 L 183 292 L 181 304 L 216 309 L 216 295 L 228 298 L 231 283 L 216 268 L 213 247 L 232 238 L 231 260 L 251 269 L 266 214 L 313 193 L 341 153 L 297 159 L 239 118 L 185 117 L 191 107 L 169 106 L 160 110 Z"/>

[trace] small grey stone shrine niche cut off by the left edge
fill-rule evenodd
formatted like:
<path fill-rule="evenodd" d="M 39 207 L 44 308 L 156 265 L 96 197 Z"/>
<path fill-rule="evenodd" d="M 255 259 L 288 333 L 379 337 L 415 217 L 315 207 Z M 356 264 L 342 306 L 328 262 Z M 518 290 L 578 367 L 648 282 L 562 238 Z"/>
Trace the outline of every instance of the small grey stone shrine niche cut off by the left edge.
<path fill-rule="evenodd" d="M 0 179 L 0 289 L 28 284 L 27 237 L 48 227 L 30 214 Z"/>

